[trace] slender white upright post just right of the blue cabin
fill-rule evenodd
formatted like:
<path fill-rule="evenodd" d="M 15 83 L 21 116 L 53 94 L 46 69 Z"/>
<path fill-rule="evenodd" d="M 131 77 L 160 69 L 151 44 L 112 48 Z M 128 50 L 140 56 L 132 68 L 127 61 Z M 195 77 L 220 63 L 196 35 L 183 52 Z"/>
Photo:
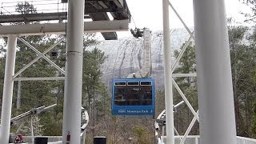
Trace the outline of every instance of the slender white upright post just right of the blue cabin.
<path fill-rule="evenodd" d="M 174 108 L 171 72 L 170 49 L 170 22 L 169 2 L 162 0 L 163 19 L 163 46 L 164 46 L 164 75 L 165 75 L 165 99 L 166 99 L 166 144 L 174 144 Z"/>

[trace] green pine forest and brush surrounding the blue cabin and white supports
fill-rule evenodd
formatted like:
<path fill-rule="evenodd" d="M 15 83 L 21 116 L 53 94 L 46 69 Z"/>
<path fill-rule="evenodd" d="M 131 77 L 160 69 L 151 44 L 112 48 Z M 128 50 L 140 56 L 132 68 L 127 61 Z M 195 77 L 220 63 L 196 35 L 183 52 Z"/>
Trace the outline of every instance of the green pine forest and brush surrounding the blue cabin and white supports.
<path fill-rule="evenodd" d="M 246 22 L 254 23 L 256 18 L 256 3 L 245 1 L 252 6 L 252 14 L 244 14 Z M 24 12 L 20 4 L 17 11 Z M 35 13 L 30 6 L 28 13 Z M 245 23 L 246 23 L 245 22 Z M 20 23 L 15 23 L 16 25 Z M 230 58 L 232 68 L 232 81 L 234 91 L 234 111 L 237 126 L 237 135 L 247 138 L 256 138 L 256 29 L 255 26 L 245 26 L 233 18 L 228 18 L 228 32 L 230 41 Z M 22 36 L 37 50 L 43 52 L 65 35 L 39 35 Z M 2 91 L 6 62 L 6 38 L 2 38 L 0 46 L 0 105 L 2 105 Z M 102 82 L 101 66 L 106 60 L 106 54 L 97 49 L 98 39 L 95 34 L 84 34 L 83 47 L 83 79 L 82 79 L 82 106 L 88 111 L 90 123 L 86 130 L 86 143 L 93 143 L 94 136 L 106 136 L 108 143 L 154 143 L 154 119 L 118 118 L 111 114 L 110 86 Z M 184 43 L 185 44 L 185 43 Z M 15 73 L 37 57 L 24 43 L 18 41 L 16 53 Z M 93 50 L 87 50 L 94 46 Z M 46 54 L 61 68 L 65 67 L 66 42 L 60 42 Z M 178 57 L 179 51 L 174 51 Z M 190 42 L 178 68 L 174 73 L 195 73 L 195 47 Z M 39 59 L 27 70 L 18 75 L 20 78 L 64 77 L 49 62 Z M 196 78 L 175 78 L 178 86 L 188 98 L 194 110 L 198 110 Z M 174 90 L 174 103 L 182 101 L 178 90 Z M 22 122 L 20 133 L 30 135 L 30 122 L 34 126 L 34 135 L 62 135 L 62 110 L 64 81 L 17 81 L 14 82 L 12 118 L 27 110 L 38 106 L 50 106 L 57 103 L 53 110 L 47 111 Z M 165 109 L 164 90 L 157 90 L 156 116 Z M 180 135 L 185 134 L 194 114 L 186 105 L 179 107 L 174 114 L 174 126 Z M 190 135 L 199 134 L 199 123 L 193 126 Z M 12 126 L 11 132 L 15 133 L 18 126 Z"/>

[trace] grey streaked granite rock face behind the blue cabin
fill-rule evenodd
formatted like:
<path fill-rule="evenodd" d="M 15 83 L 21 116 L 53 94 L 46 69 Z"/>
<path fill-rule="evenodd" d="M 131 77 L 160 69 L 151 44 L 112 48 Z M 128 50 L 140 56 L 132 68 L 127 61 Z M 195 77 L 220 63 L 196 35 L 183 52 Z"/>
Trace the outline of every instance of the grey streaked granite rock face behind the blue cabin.
<path fill-rule="evenodd" d="M 180 50 L 189 34 L 185 29 L 174 29 L 170 35 L 171 49 Z M 112 41 L 102 41 L 96 46 L 102 50 L 107 58 L 102 65 L 102 80 L 111 87 L 114 78 L 127 78 L 142 68 L 143 38 L 120 38 Z M 90 47 L 92 49 L 94 47 Z M 151 33 L 152 73 L 150 78 L 155 79 L 155 88 L 164 88 L 164 50 L 162 31 Z M 174 54 L 171 55 L 174 63 Z"/>

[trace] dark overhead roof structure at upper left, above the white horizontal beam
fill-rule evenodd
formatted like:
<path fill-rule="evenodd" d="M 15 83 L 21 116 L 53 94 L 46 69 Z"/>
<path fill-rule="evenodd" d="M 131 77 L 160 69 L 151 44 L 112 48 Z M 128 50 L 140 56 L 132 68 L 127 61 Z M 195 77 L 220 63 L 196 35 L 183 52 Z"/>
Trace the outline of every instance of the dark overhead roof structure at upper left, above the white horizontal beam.
<path fill-rule="evenodd" d="M 54 0 L 53 0 L 54 1 Z M 57 2 L 57 0 L 55 0 Z M 26 1 L 29 2 L 29 1 Z M 63 1 L 62 2 L 67 2 Z M 30 3 L 29 3 L 30 4 Z M 58 3 L 60 4 L 60 3 Z M 41 12 L 41 11 L 40 11 Z M 113 20 L 109 17 L 109 15 L 112 16 Z M 42 13 L 34 13 L 34 14 L 1 14 L 0 15 L 0 24 L 4 23 L 12 23 L 12 22 L 24 22 L 24 24 L 29 22 L 39 22 L 39 21 L 59 21 L 62 22 L 63 20 L 66 20 L 67 18 L 67 12 L 47 12 L 42 11 Z M 126 4 L 126 0 L 85 0 L 85 19 L 90 18 L 90 27 L 94 25 L 94 21 L 101 21 L 101 29 L 98 31 L 101 31 L 103 38 L 106 40 L 114 40 L 118 39 L 118 35 L 115 31 L 118 30 L 128 30 L 128 23 L 130 22 L 130 10 Z M 109 21 L 109 22 L 108 22 Z M 104 25 L 104 22 L 106 22 L 106 25 Z M 95 26 L 98 26 L 97 25 Z M 120 23 L 120 26 L 118 26 L 118 23 Z M 56 23 L 55 23 L 56 25 Z M 85 25 L 86 26 L 86 25 Z M 105 26 L 107 26 L 106 30 Z M 110 26 L 112 26 L 110 28 Z M 110 30 L 109 30 L 110 28 Z M 2 31 L 5 31 L 5 29 L 17 29 L 13 27 L 6 26 L 0 26 L 0 29 Z M 114 29 L 117 29 L 114 31 Z M 85 27 L 85 30 L 88 30 Z M 96 31 L 94 30 L 88 30 L 88 31 Z M 19 34 L 21 34 L 18 31 Z M 29 32 L 28 32 L 29 33 Z M 9 33 L 10 34 L 10 33 Z M 0 34 L 3 35 L 3 34 Z"/>

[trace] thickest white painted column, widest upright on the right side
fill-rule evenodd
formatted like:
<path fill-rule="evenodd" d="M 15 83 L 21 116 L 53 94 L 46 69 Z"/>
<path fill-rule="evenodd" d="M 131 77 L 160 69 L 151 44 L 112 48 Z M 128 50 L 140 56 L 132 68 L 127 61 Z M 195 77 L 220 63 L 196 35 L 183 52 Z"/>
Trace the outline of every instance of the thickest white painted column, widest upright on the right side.
<path fill-rule="evenodd" d="M 194 0 L 200 143 L 236 143 L 224 0 Z"/>

